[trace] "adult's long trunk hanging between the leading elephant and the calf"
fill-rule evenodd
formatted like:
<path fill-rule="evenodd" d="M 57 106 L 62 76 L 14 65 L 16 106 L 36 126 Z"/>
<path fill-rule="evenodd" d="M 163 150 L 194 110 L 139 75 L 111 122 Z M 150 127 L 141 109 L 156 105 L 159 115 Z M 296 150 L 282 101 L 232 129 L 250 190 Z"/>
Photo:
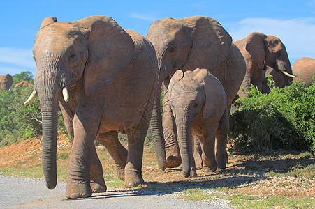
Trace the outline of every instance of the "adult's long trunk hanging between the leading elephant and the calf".
<path fill-rule="evenodd" d="M 163 137 L 162 118 L 161 118 L 161 88 L 158 88 L 156 92 L 156 100 L 154 101 L 154 107 L 151 116 L 151 135 L 154 150 L 156 153 L 156 159 L 159 168 L 164 171 L 166 169 L 166 152 L 165 141 Z"/>

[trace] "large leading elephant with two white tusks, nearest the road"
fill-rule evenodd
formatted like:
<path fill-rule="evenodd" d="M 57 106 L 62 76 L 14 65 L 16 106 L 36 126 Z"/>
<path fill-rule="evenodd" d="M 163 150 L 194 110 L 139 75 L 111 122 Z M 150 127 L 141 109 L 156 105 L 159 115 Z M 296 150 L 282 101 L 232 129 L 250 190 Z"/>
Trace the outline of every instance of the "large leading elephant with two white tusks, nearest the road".
<path fill-rule="evenodd" d="M 57 184 L 58 104 L 73 141 L 66 177 L 66 197 L 105 192 L 95 139 L 115 160 L 126 187 L 144 183 L 143 142 L 158 82 L 156 53 L 145 37 L 122 29 L 106 16 L 75 22 L 46 17 L 33 47 L 37 70 L 34 91 L 43 121 L 42 164 L 46 185 Z M 128 135 L 128 150 L 117 133 Z"/>

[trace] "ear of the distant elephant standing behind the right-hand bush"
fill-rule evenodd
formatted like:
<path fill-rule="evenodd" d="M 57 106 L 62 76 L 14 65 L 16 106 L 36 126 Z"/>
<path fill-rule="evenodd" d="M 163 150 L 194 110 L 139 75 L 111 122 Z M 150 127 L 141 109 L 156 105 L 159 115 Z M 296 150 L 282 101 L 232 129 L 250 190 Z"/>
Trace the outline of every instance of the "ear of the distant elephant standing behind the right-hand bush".
<path fill-rule="evenodd" d="M 251 55 L 251 59 L 257 63 L 260 69 L 265 68 L 266 42 L 267 36 L 263 33 L 251 33 L 245 42 L 246 51 Z"/>

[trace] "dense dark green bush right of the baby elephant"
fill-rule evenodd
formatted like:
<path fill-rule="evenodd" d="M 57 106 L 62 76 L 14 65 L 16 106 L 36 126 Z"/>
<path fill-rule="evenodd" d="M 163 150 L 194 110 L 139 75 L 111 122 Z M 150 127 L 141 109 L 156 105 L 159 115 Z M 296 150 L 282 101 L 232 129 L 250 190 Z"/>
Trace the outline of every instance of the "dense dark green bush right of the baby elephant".
<path fill-rule="evenodd" d="M 315 80 L 314 80 L 315 81 Z M 230 116 L 228 138 L 233 153 L 315 149 L 315 82 L 293 82 L 265 95 L 254 86 Z"/>

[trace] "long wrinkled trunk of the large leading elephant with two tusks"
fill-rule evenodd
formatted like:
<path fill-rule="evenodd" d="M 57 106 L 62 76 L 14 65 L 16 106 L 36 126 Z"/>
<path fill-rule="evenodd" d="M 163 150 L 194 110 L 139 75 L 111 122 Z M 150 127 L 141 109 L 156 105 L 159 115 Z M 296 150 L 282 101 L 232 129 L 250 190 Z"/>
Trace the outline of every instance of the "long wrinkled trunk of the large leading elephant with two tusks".
<path fill-rule="evenodd" d="M 46 186 L 54 189 L 57 184 L 57 127 L 58 127 L 58 99 L 64 86 L 60 76 L 60 66 L 57 61 L 49 57 L 42 68 L 36 72 L 34 89 L 38 93 L 41 105 L 43 127 L 42 166 Z"/>

